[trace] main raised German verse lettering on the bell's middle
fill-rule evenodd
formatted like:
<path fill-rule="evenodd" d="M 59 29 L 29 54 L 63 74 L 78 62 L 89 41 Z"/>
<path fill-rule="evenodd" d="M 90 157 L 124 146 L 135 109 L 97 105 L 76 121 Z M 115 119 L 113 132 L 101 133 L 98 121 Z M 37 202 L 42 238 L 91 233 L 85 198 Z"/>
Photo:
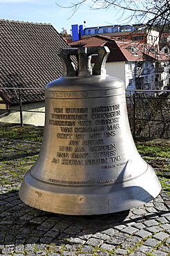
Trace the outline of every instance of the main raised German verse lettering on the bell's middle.
<path fill-rule="evenodd" d="M 100 165 L 102 169 L 122 160 L 115 143 L 106 144 L 120 129 L 120 104 L 97 107 L 53 107 L 49 123 L 57 125 L 59 147 L 52 163 Z M 68 121 L 68 120 L 74 121 Z M 55 124 L 55 122 L 57 122 Z M 67 122 L 74 122 L 68 125 Z M 66 141 L 62 145 L 62 140 Z M 61 160 L 61 161 L 60 161 Z M 110 165 L 109 165 L 110 163 Z"/>

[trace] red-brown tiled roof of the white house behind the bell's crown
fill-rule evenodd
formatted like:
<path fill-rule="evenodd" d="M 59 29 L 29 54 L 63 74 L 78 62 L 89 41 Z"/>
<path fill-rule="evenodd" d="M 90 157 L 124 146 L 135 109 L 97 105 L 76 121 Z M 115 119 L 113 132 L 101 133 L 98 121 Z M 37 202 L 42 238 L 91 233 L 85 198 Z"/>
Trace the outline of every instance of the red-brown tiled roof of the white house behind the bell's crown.
<path fill-rule="evenodd" d="M 151 45 L 101 35 L 87 37 L 70 42 L 69 44 L 71 47 L 108 46 L 111 53 L 108 56 L 107 62 L 167 60 L 163 53 Z M 131 50 L 135 50 L 135 52 Z"/>

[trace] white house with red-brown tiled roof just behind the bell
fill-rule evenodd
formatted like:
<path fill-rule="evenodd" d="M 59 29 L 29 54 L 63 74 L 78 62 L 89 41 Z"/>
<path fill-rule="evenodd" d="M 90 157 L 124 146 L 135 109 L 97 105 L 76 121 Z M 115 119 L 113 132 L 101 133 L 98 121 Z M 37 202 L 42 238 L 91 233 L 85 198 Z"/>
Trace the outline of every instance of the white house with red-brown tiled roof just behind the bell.
<path fill-rule="evenodd" d="M 126 89 L 164 89 L 167 86 L 168 58 L 153 45 L 101 35 L 69 44 L 74 48 L 108 46 L 110 54 L 106 61 L 106 71 L 108 75 L 123 80 Z"/>

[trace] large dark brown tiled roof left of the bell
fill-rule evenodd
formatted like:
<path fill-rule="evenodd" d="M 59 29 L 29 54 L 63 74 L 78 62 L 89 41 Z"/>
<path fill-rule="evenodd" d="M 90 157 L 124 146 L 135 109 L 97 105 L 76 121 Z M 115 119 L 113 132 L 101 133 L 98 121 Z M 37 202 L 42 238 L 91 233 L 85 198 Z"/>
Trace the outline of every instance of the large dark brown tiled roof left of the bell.
<path fill-rule="evenodd" d="M 0 96 L 18 103 L 19 87 L 26 88 L 23 102 L 44 100 L 44 90 L 30 93 L 28 88 L 44 89 L 62 75 L 57 51 L 68 44 L 50 24 L 0 20 L 0 27 Z"/>

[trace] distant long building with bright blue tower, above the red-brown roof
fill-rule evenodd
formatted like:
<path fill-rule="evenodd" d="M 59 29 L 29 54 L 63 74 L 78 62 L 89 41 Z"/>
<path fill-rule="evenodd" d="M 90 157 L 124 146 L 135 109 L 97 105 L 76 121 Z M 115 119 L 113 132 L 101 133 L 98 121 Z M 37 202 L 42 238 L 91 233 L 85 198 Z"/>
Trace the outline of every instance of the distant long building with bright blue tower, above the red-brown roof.
<path fill-rule="evenodd" d="M 97 26 L 86 28 L 83 25 L 71 26 L 72 36 L 67 36 L 68 42 L 84 39 L 93 35 L 102 35 L 108 37 L 122 37 L 126 40 L 140 42 L 144 44 L 152 44 L 158 46 L 159 32 L 156 30 L 148 30 L 144 24 L 136 25 L 111 25 L 111 26 Z"/>

